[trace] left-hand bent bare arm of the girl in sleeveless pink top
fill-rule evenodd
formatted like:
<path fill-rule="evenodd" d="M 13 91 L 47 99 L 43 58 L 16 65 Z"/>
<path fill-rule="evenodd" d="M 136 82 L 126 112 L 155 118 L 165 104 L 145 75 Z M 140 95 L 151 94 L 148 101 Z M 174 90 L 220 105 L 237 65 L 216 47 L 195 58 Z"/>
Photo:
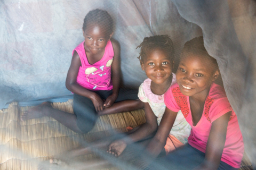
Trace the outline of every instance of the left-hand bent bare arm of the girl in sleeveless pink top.
<path fill-rule="evenodd" d="M 66 79 L 67 89 L 74 92 L 75 94 L 91 99 L 96 111 L 103 111 L 103 101 L 100 98 L 100 96 L 95 94 L 95 92 L 87 90 L 76 83 L 77 74 L 80 66 L 81 60 L 77 52 L 75 51 L 71 60 L 71 65 L 69 67 Z"/>

